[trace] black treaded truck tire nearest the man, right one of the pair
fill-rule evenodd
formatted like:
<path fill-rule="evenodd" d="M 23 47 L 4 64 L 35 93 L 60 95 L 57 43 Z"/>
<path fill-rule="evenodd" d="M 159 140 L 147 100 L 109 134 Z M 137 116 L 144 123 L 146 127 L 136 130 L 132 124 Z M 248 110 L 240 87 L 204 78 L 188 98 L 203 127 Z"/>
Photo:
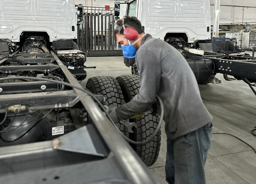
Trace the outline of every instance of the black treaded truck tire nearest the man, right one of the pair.
<path fill-rule="evenodd" d="M 124 94 L 125 102 L 129 102 L 140 90 L 139 76 L 137 75 L 123 75 L 116 77 L 121 90 Z M 129 133 L 129 138 L 134 141 L 145 141 L 156 130 L 159 122 L 158 115 L 153 115 L 151 111 L 144 113 L 141 117 L 131 119 L 130 122 L 137 123 L 137 129 L 134 129 L 134 133 Z M 159 155 L 161 145 L 161 130 L 159 130 L 157 136 L 152 141 L 145 145 L 131 144 L 133 149 L 140 156 L 142 161 L 149 167 L 152 166 Z"/>

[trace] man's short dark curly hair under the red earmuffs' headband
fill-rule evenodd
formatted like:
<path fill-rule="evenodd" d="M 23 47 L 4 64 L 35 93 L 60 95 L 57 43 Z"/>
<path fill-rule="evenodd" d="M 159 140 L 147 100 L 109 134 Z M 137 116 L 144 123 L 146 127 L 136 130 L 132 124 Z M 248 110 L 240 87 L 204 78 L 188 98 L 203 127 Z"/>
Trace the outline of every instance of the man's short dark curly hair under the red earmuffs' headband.
<path fill-rule="evenodd" d="M 144 33 L 141 23 L 136 17 L 124 16 L 123 19 L 124 19 L 124 24 L 135 28 L 139 34 Z M 123 19 L 118 20 L 116 24 L 119 26 L 123 26 Z M 124 34 L 124 29 L 122 28 L 119 33 Z M 118 34 L 118 31 L 115 29 L 114 30 L 115 38 L 116 38 L 116 34 Z"/>

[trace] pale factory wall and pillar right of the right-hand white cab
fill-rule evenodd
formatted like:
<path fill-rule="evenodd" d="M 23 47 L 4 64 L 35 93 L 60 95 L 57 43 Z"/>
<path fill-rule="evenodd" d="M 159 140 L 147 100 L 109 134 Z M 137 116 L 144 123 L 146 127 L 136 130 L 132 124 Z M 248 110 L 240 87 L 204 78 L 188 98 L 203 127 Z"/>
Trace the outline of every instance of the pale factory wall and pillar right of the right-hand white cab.
<path fill-rule="evenodd" d="M 213 24 L 214 14 L 214 0 L 210 0 L 211 4 L 211 20 Z M 231 6 L 224 6 L 231 5 Z M 235 5 L 233 7 L 233 5 Z M 244 6 L 244 20 L 243 20 L 243 7 Z M 246 7 L 250 6 L 250 7 Z M 251 8 L 255 7 L 255 8 Z M 234 14 L 234 16 L 233 16 Z M 251 23 L 256 22 L 256 0 L 220 0 L 220 24 L 223 23 Z"/>

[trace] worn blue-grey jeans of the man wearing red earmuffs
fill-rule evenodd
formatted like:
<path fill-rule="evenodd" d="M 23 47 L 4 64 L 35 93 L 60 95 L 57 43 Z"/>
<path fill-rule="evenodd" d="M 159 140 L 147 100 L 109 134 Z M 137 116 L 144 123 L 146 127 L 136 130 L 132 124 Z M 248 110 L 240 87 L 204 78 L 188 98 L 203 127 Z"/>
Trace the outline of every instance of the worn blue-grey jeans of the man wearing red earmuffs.
<path fill-rule="evenodd" d="M 166 181 L 205 184 L 204 165 L 211 142 L 212 122 L 175 140 L 167 138 Z"/>

